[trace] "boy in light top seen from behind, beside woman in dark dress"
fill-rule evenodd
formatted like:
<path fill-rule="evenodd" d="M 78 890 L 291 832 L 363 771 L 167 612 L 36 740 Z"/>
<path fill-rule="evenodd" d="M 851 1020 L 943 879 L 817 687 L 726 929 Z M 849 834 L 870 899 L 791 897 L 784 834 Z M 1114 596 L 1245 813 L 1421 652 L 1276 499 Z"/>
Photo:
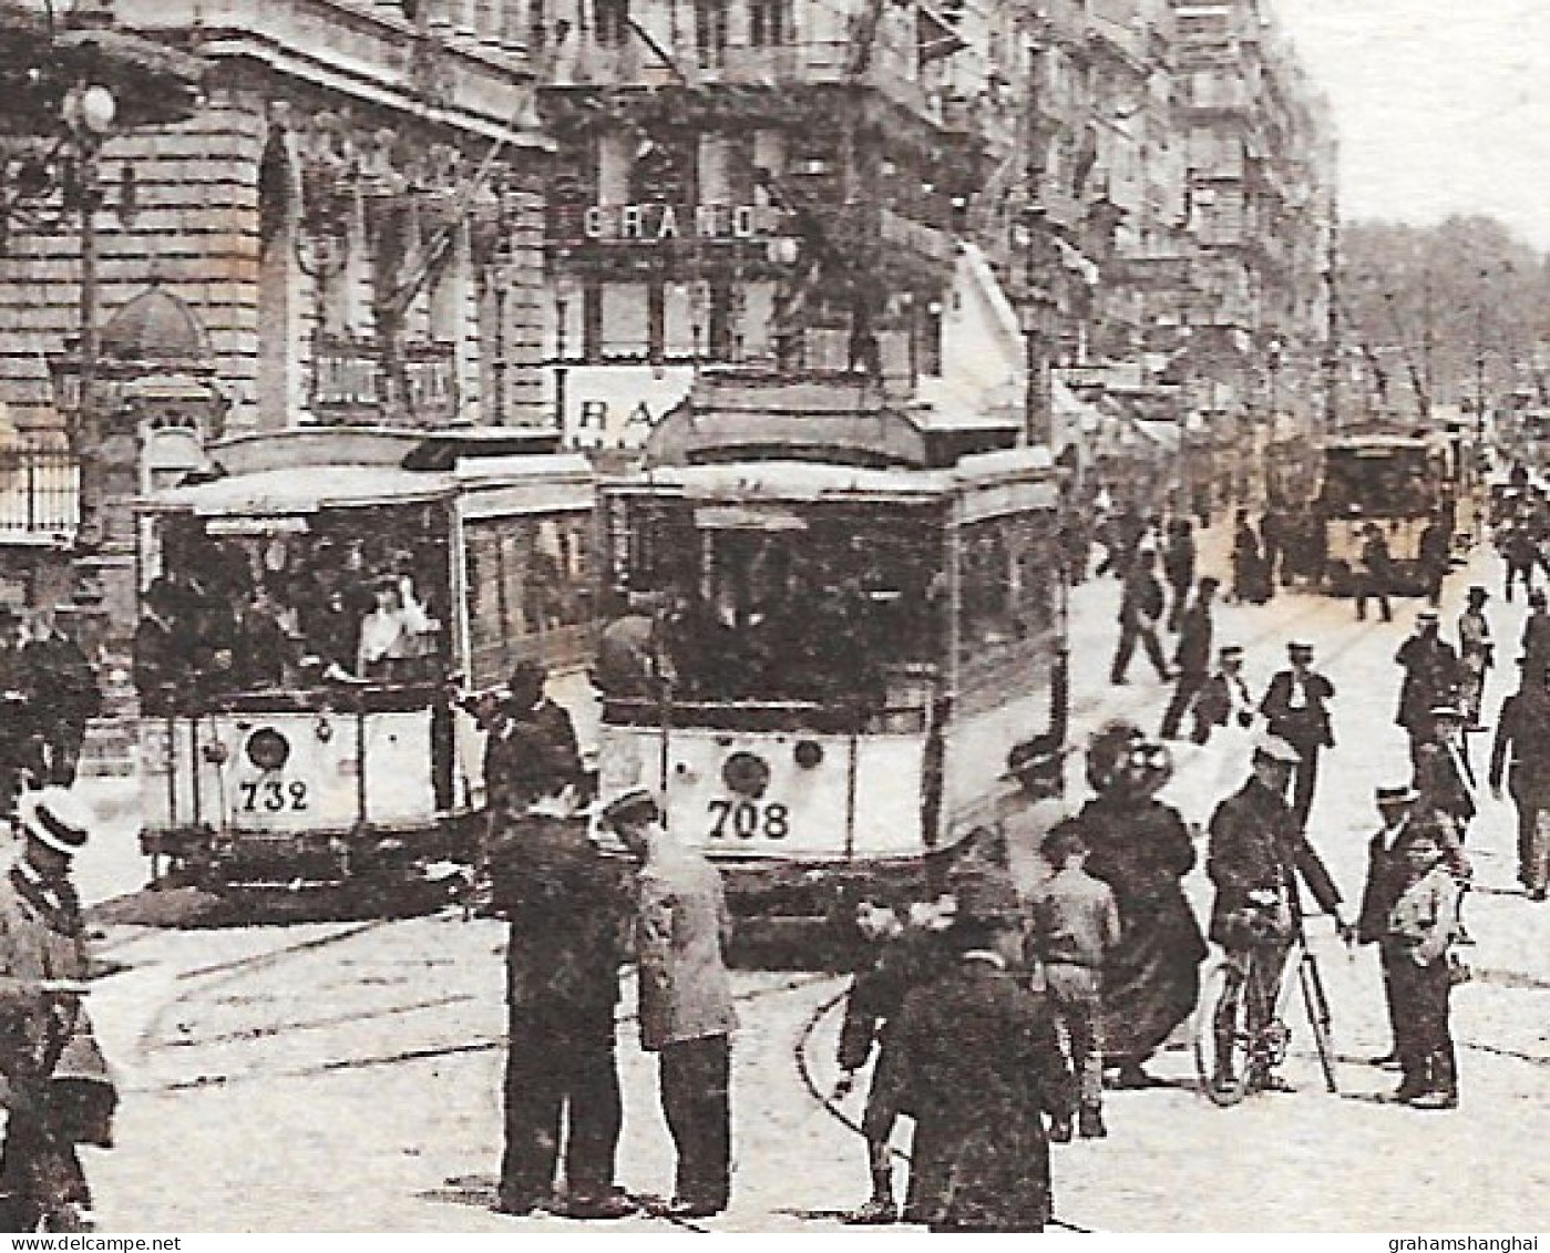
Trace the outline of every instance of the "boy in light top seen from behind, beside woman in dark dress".
<path fill-rule="evenodd" d="M 1032 898 L 1029 941 L 1043 963 L 1060 1048 L 1080 1086 L 1077 1124 L 1083 1138 L 1107 1135 L 1104 1127 L 1104 957 L 1119 943 L 1119 906 L 1102 879 L 1087 873 L 1087 842 L 1062 823 L 1043 842 L 1056 872 Z M 1071 1123 L 1056 1118 L 1049 1138 L 1071 1138 Z"/>

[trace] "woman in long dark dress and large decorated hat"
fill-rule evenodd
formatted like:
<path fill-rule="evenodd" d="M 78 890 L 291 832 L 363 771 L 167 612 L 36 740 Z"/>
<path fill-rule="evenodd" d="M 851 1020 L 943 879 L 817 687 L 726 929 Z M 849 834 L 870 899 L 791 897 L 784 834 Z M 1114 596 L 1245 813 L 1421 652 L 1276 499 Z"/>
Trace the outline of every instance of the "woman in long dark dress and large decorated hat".
<path fill-rule="evenodd" d="M 1209 952 L 1183 887 L 1194 841 L 1155 796 L 1170 775 L 1166 747 L 1130 724 L 1110 726 L 1088 747 L 1097 796 L 1068 819 L 1087 842 L 1087 873 L 1119 906 L 1119 944 L 1104 960 L 1104 1058 L 1119 1067 L 1119 1087 L 1155 1082 L 1144 1064 L 1194 1013 Z"/>

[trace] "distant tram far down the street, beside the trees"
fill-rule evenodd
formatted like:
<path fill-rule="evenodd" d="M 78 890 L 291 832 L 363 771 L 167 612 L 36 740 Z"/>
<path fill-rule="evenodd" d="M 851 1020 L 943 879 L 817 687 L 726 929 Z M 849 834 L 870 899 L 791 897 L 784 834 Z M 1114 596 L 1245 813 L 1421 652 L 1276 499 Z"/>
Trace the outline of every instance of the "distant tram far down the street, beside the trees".
<path fill-rule="evenodd" d="M 1387 540 L 1393 591 L 1423 591 L 1421 532 L 1451 502 L 1451 490 L 1448 445 L 1442 439 L 1392 434 L 1331 439 L 1324 448 L 1318 498 L 1330 591 L 1350 592 L 1369 526 L 1376 526 Z"/>

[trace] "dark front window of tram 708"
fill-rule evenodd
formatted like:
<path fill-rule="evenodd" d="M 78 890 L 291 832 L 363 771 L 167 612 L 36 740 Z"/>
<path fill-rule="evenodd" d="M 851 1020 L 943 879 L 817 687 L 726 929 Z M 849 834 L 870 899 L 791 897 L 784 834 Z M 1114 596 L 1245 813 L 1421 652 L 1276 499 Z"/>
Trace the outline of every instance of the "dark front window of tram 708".
<path fill-rule="evenodd" d="M 863 713 L 918 706 L 921 675 L 936 656 L 936 549 L 907 537 L 854 519 L 699 530 L 677 549 L 679 568 L 654 606 L 674 699 Z"/>

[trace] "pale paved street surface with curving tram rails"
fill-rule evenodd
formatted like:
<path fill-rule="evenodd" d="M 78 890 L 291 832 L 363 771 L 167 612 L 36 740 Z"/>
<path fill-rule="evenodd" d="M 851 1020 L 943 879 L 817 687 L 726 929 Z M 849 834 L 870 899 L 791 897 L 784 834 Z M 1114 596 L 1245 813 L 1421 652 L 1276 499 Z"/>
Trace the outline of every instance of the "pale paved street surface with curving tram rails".
<path fill-rule="evenodd" d="M 1477 574 L 1499 586 L 1493 558 L 1479 558 Z M 1466 582 L 1459 575 L 1449 586 L 1449 630 Z M 1162 684 L 1141 678 L 1139 665 L 1128 687 L 1105 681 L 1116 603 L 1108 580 L 1076 595 L 1079 723 L 1132 713 L 1155 727 Z M 1347 603 L 1293 594 L 1269 606 L 1226 606 L 1220 617 L 1220 637 L 1248 647 L 1260 685 L 1296 634 L 1318 645 L 1319 665 L 1339 689 L 1341 746 L 1328 758 L 1311 831 L 1347 898 L 1359 889 L 1372 789 L 1407 769 L 1404 737 L 1392 724 L 1392 658 L 1414 608 L 1401 608 L 1392 626 L 1358 626 Z M 1522 606 L 1493 602 L 1491 613 L 1497 637 L 1516 640 Z M 1507 678 L 1494 676 L 1488 710 Z M 1476 746 L 1477 761 L 1485 747 Z M 1176 754 L 1166 799 L 1204 822 L 1243 777 L 1246 743 L 1181 744 Z M 84 867 L 95 896 L 140 876 L 132 803 L 122 791 L 104 800 L 118 819 Z M 1049 816 L 1017 825 L 1025 845 Z M 1187 1051 L 1167 1051 L 1156 1068 L 1175 1087 L 1114 1093 L 1111 1138 L 1056 1154 L 1059 1214 L 1096 1230 L 1153 1231 L 1550 1225 L 1550 1158 L 1541 1149 L 1550 1112 L 1550 906 L 1516 890 L 1511 839 L 1510 809 L 1488 800 L 1471 841 L 1479 890 L 1469 926 L 1480 975 L 1455 1000 L 1459 1112 L 1372 1099 L 1392 1086 L 1392 1076 L 1361 1064 L 1387 1045 L 1376 961 L 1370 952 L 1347 955 L 1325 924 L 1316 946 L 1347 1096 L 1322 1092 L 1305 1033 L 1286 1065 L 1300 1090 L 1232 1110 L 1192 1090 Z M 1198 873 L 1190 892 L 1204 909 Z M 119 1148 L 88 1162 L 105 1224 L 138 1231 L 570 1227 L 487 1210 L 499 1154 L 502 940 L 499 924 L 454 915 L 245 930 L 110 927 L 101 948 L 124 969 L 101 980 L 93 1011 L 121 1068 L 124 1104 Z M 797 1058 L 801 1051 L 826 1089 L 837 1016 L 823 1006 L 842 983 L 741 974 L 738 988 L 736 1196 L 710 1225 L 834 1228 L 832 1213 L 865 1194 L 865 1162 L 854 1134 L 812 1098 Z M 660 1194 L 671 1179 L 666 1129 L 653 1064 L 637 1051 L 629 1022 L 620 1053 L 622 1177 L 631 1189 Z M 859 1096 L 848 1109 L 859 1112 Z M 651 1219 L 622 1225 L 662 1227 Z"/>

